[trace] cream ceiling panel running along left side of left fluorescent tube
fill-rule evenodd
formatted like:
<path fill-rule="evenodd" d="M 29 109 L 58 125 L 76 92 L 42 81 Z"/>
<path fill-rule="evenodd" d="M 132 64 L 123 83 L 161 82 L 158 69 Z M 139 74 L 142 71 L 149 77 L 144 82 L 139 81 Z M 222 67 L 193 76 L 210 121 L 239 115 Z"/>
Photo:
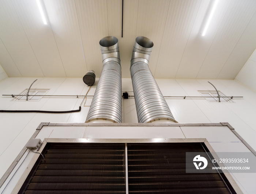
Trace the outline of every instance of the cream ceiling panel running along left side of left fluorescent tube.
<path fill-rule="evenodd" d="M 66 77 L 50 24 L 43 25 L 37 1 L 12 0 L 45 77 Z M 32 17 L 33 16 L 33 17 Z"/>

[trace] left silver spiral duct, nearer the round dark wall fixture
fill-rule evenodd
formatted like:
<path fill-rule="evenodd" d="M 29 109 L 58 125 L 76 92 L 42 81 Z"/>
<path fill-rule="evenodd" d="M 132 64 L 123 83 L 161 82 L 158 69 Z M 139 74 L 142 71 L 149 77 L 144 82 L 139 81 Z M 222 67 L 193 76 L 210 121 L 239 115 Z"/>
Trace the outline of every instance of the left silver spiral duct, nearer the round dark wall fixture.
<path fill-rule="evenodd" d="M 118 39 L 107 36 L 99 41 L 103 69 L 86 123 L 106 120 L 122 123 L 122 80 Z"/>

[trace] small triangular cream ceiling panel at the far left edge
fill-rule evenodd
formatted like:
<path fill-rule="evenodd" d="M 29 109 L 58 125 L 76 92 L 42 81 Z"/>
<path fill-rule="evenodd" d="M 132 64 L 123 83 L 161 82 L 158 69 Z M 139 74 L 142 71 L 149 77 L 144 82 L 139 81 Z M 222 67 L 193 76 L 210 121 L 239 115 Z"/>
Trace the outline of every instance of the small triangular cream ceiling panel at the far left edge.
<path fill-rule="evenodd" d="M 4 68 L 5 72 L 9 75 L 9 77 L 21 77 L 19 69 L 11 58 L 8 50 L 5 48 L 4 43 L 0 39 L 0 63 Z"/>

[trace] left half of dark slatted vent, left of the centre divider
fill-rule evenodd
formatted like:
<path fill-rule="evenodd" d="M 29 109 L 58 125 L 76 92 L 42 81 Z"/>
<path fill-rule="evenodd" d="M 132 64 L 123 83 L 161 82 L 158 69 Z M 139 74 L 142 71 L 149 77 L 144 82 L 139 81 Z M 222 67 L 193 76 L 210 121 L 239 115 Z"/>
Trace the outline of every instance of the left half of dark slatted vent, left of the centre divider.
<path fill-rule="evenodd" d="M 50 143 L 43 154 L 19 193 L 125 193 L 125 144 Z"/>

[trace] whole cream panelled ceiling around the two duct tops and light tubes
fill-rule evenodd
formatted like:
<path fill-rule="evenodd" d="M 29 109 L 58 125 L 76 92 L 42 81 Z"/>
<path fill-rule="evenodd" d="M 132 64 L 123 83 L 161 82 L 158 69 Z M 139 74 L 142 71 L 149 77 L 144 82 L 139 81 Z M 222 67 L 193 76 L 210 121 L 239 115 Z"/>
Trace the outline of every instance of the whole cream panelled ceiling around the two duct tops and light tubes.
<path fill-rule="evenodd" d="M 154 42 L 155 78 L 234 79 L 256 49 L 256 0 L 0 0 L 0 64 L 9 77 L 83 77 L 102 70 L 99 40 L 119 40 L 130 77 L 137 36 Z"/>

